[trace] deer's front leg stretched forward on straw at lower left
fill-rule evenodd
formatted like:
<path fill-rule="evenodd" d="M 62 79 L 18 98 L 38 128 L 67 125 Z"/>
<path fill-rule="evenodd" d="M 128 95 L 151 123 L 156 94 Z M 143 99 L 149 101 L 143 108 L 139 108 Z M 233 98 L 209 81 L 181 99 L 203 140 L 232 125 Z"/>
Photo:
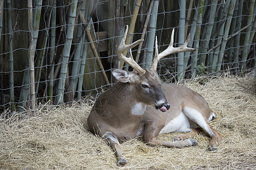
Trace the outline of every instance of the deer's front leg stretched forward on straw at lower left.
<path fill-rule="evenodd" d="M 109 142 L 110 147 L 115 152 L 115 156 L 117 157 L 117 165 L 123 166 L 127 164 L 127 161 L 123 158 L 120 143 L 118 142 L 118 138 L 112 132 L 108 131 L 104 135 L 104 139 Z"/>

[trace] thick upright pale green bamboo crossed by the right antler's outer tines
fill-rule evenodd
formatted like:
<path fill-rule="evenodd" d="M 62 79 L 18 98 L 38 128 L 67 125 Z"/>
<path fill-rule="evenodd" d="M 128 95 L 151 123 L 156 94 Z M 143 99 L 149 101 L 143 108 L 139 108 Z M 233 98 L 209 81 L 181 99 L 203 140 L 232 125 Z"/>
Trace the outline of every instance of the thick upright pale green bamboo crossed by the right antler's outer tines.
<path fill-rule="evenodd" d="M 184 44 L 184 39 L 185 39 L 185 16 L 186 16 L 186 1 L 185 0 L 180 0 L 180 21 L 179 21 L 179 45 Z M 184 68 L 184 53 L 178 53 L 177 54 L 177 74 L 178 76 L 178 81 L 183 79 L 184 73 L 183 72 Z"/>

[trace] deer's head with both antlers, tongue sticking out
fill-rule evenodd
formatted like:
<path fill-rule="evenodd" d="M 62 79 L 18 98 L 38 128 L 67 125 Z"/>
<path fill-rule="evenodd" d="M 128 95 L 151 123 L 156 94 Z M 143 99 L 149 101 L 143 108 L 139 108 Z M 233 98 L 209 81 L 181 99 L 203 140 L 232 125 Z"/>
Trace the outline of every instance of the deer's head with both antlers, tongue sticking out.
<path fill-rule="evenodd" d="M 128 32 L 128 25 L 126 25 L 125 34 L 123 35 L 123 39 L 121 44 L 118 46 L 117 54 L 118 57 L 123 59 L 126 63 L 128 63 L 135 71 L 125 71 L 121 69 L 114 70 L 112 74 L 114 77 L 121 83 L 129 83 L 133 91 L 134 97 L 141 101 L 146 105 L 155 106 L 156 109 L 160 109 L 162 112 L 166 112 L 170 108 L 170 104 L 168 103 L 166 96 L 164 95 L 161 88 L 161 81 L 156 73 L 156 68 L 158 61 L 170 54 L 177 52 L 187 52 L 193 51 L 193 48 L 187 48 L 187 44 L 189 41 L 189 36 L 185 41 L 184 45 L 178 48 L 173 47 L 174 42 L 174 30 L 171 35 L 170 45 L 166 50 L 162 53 L 158 54 L 158 42 L 157 37 L 155 40 L 155 57 L 152 62 L 151 69 L 142 69 L 141 66 L 138 65 L 133 59 L 131 54 L 131 48 L 141 43 L 143 40 L 138 40 L 133 42 L 133 44 L 126 45 L 125 40 Z M 129 50 L 130 57 L 127 58 L 122 54 L 122 52 Z"/>

